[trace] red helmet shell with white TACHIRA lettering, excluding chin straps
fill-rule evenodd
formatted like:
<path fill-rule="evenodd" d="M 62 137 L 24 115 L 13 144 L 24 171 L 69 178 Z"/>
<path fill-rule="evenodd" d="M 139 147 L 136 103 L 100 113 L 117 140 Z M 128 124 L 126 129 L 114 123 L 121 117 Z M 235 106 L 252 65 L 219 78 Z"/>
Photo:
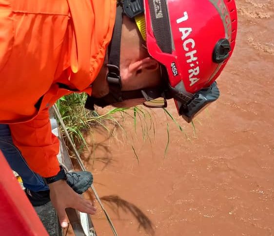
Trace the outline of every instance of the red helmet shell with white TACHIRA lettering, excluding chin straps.
<path fill-rule="evenodd" d="M 171 87 L 192 94 L 210 88 L 203 105 L 216 100 L 213 83 L 235 47 L 235 1 L 144 0 L 144 9 L 148 52 L 165 67 Z M 181 115 L 188 113 L 180 99 L 175 102 Z M 196 112 L 184 118 L 190 121 Z"/>

